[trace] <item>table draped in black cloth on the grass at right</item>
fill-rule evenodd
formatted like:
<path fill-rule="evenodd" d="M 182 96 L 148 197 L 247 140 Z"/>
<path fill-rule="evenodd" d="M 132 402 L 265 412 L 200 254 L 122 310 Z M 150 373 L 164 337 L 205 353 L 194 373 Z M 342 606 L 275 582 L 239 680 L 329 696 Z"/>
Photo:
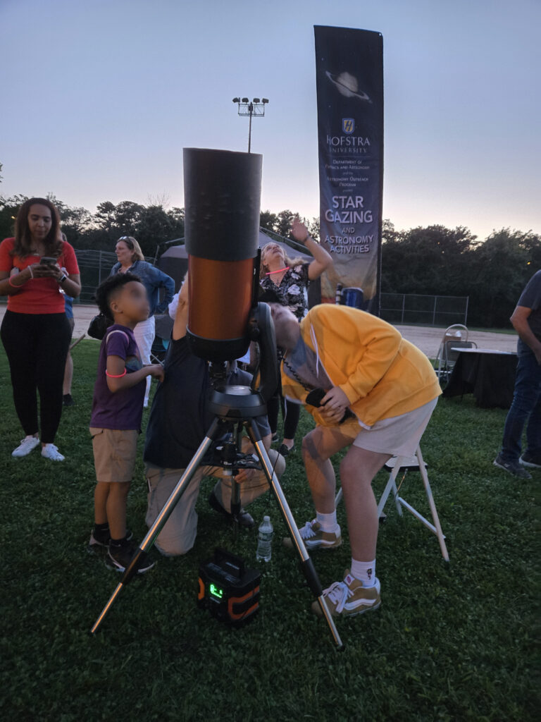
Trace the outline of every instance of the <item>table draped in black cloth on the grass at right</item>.
<path fill-rule="evenodd" d="M 493 349 L 452 349 L 459 352 L 444 397 L 473 393 L 483 409 L 509 409 L 515 386 L 516 354 Z"/>

